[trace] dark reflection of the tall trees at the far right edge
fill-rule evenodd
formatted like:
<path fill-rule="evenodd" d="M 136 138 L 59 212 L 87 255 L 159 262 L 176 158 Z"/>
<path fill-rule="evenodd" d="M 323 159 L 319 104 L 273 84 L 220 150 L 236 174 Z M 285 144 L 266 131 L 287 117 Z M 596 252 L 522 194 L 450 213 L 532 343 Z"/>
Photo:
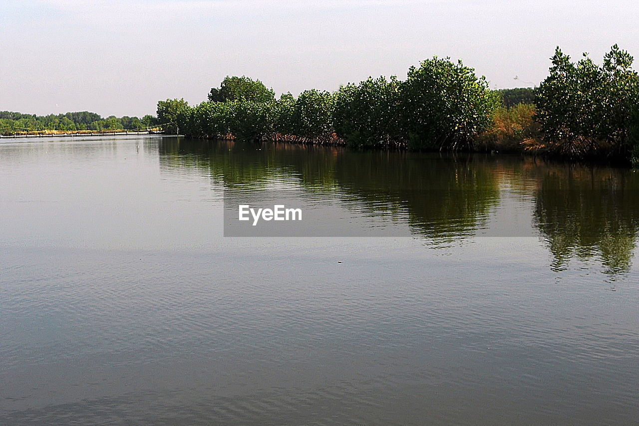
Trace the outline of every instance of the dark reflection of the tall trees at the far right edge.
<path fill-rule="evenodd" d="M 639 179 L 623 169 L 537 169 L 535 224 L 553 268 L 573 257 L 600 257 L 610 273 L 629 270 L 639 229 Z"/>

